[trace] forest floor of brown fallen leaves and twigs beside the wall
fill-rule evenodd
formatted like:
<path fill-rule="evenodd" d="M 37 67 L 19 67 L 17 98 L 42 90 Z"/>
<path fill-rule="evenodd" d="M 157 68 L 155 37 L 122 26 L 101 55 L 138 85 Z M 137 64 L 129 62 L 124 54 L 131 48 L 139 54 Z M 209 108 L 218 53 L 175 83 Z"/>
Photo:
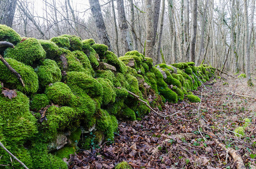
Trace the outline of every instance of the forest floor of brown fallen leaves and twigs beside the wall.
<path fill-rule="evenodd" d="M 246 168 L 255 168 L 256 87 L 247 87 L 246 79 L 224 78 L 192 91 L 201 103 L 166 103 L 158 111 L 175 115 L 151 112 L 142 121 L 119 122 L 113 143 L 80 150 L 71 156 L 70 168 L 114 168 L 123 161 L 132 168 L 236 168 L 240 155 Z M 251 122 L 245 136 L 237 137 L 233 131 L 245 118 Z"/>

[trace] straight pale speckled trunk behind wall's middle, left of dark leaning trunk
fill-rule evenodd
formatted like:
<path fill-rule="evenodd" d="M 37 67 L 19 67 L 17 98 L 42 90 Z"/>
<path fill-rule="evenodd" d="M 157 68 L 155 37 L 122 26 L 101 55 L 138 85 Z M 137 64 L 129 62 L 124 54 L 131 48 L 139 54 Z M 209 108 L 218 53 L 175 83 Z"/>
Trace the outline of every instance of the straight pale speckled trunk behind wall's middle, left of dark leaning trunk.
<path fill-rule="evenodd" d="M 146 46 L 145 57 L 153 58 L 153 6 L 152 0 L 145 0 L 146 7 Z"/>

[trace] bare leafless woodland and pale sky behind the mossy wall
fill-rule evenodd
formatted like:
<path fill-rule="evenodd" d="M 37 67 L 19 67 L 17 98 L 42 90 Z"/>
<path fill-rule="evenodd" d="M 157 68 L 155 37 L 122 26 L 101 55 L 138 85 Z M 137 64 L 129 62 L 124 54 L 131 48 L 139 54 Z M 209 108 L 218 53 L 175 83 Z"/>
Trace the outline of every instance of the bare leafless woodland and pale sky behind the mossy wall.
<path fill-rule="evenodd" d="M 245 72 L 249 81 L 255 72 L 255 0 L 37 3 L 1 1 L 0 23 L 24 37 L 50 39 L 75 34 L 82 39 L 93 38 L 118 56 L 138 50 L 152 57 L 155 64 L 194 61 L 224 72 Z"/>

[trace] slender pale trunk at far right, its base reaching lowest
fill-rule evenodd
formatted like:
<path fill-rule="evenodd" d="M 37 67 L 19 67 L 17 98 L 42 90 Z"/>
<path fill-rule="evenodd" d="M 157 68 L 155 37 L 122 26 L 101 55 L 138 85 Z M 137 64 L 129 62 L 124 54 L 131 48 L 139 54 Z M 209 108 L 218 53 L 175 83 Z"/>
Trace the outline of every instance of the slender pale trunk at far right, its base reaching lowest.
<path fill-rule="evenodd" d="M 252 86 L 250 74 L 250 42 L 249 42 L 249 23 L 248 23 L 248 7 L 247 0 L 244 0 L 244 15 L 245 15 L 245 52 L 246 52 L 246 75 L 248 86 Z"/>

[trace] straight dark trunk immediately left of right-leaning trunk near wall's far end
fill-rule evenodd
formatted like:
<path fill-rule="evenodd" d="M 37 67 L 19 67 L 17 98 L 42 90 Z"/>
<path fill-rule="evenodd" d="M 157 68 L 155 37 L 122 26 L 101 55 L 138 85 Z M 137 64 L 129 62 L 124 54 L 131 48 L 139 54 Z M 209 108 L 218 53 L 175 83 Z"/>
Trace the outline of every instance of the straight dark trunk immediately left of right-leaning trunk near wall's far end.
<path fill-rule="evenodd" d="M 193 0 L 193 12 L 192 12 L 192 40 L 190 44 L 190 61 L 196 59 L 196 39 L 197 39 L 197 0 Z"/>

